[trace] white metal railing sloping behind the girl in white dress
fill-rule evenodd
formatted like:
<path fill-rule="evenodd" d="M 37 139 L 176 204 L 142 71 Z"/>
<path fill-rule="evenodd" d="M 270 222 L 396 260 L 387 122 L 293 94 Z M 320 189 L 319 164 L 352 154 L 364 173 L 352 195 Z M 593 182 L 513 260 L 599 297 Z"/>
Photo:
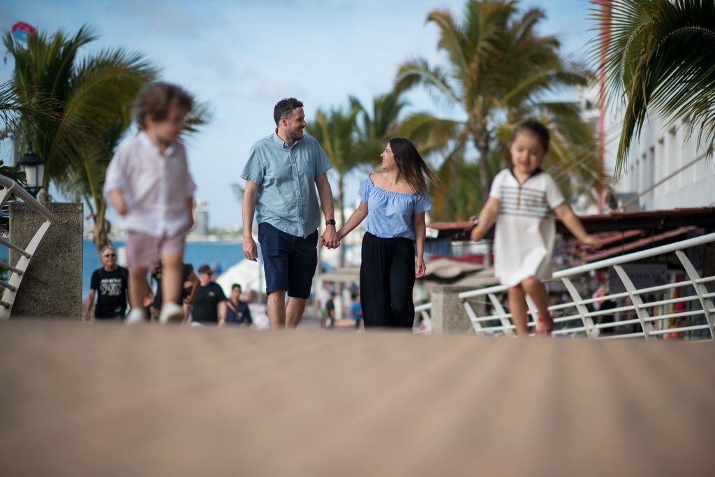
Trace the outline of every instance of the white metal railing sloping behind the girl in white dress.
<path fill-rule="evenodd" d="M 686 333 L 689 335 L 700 333 L 700 336 L 691 336 L 691 338 L 715 340 L 715 307 L 712 301 L 715 293 L 710 292 L 706 287 L 706 283 L 715 282 L 715 275 L 701 277 L 683 252 L 688 248 L 711 242 L 715 242 L 715 233 L 555 272 L 551 280 L 546 282 L 547 287 L 549 283 L 561 280 L 568 291 L 569 299 L 548 307 L 556 327 L 553 335 L 648 339 L 663 335 L 682 336 Z M 674 263 L 679 264 L 676 270 L 671 270 L 671 277 L 674 277 L 672 272 L 676 271 L 686 277 L 686 280 L 672 280 L 664 285 L 638 289 L 623 268 L 623 265 L 636 260 L 668 257 L 670 254 L 676 256 L 677 260 Z M 610 267 L 615 270 L 626 291 L 598 297 L 581 296 L 573 278 Z M 458 295 L 475 333 L 514 335 L 515 327 L 511 322 L 511 313 L 505 310 L 499 297 L 500 294 L 506 295 L 507 290 L 508 287 L 498 285 L 462 292 Z M 652 299 L 649 301 L 648 297 Z M 608 300 L 615 301 L 616 307 L 608 310 L 593 309 L 594 303 Z M 536 329 L 538 310 L 528 295 L 527 303 L 528 315 L 531 316 L 531 319 L 528 319 L 528 326 Z M 485 313 L 478 314 L 473 305 L 480 305 L 479 308 L 485 310 Z M 588 305 L 591 305 L 591 308 Z M 623 319 L 618 321 L 611 319 L 616 315 Z M 606 317 L 608 320 L 603 320 Z M 707 330 L 707 333 L 703 333 L 704 330 Z"/>

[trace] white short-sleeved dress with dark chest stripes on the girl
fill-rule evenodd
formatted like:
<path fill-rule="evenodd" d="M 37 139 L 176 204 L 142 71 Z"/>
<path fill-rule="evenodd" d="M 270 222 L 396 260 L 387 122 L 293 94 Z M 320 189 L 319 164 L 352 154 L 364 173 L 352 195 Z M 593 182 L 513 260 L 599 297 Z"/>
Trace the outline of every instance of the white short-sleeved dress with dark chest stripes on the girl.
<path fill-rule="evenodd" d="M 556 237 L 553 210 L 565 202 L 556 181 L 537 169 L 519 184 L 513 169 L 504 169 L 494 177 L 489 196 L 499 201 L 494 275 L 509 287 L 528 277 L 551 278 Z"/>

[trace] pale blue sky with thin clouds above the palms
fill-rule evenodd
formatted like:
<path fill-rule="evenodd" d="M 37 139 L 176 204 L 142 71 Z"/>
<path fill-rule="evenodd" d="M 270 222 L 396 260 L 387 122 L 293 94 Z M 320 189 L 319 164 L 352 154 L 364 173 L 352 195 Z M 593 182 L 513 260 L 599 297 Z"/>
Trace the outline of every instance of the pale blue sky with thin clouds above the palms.
<path fill-rule="evenodd" d="M 544 9 L 541 33 L 557 36 L 567 54 L 585 55 L 592 36 L 586 1 L 521 6 Z M 141 51 L 162 79 L 209 102 L 212 122 L 190 139 L 189 162 L 211 225 L 226 226 L 241 222 L 230 184 L 242 182 L 251 145 L 274 129 L 279 99 L 302 100 L 309 120 L 317 108 L 346 104 L 350 94 L 369 104 L 390 90 L 400 62 L 414 56 L 443 62 L 437 27 L 425 18 L 433 9 L 459 16 L 463 8 L 462 0 L 24 0 L 0 6 L 0 28 L 26 21 L 44 31 L 74 32 L 90 24 L 99 39 L 85 52 Z M 12 66 L 11 60 L 0 64 L 2 81 Z M 455 113 L 422 92 L 410 92 L 408 100 L 410 111 Z M 9 147 L 0 154 L 6 158 Z M 349 197 L 357 199 L 359 180 L 349 181 Z"/>

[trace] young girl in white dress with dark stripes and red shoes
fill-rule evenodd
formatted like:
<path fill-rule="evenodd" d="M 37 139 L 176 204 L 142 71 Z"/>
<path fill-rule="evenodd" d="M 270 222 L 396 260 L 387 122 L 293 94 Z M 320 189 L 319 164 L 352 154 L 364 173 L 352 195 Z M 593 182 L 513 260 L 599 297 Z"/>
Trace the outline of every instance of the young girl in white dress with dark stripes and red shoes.
<path fill-rule="evenodd" d="M 528 335 L 527 293 L 538 308 L 536 334 L 548 335 L 553 330 L 541 280 L 551 278 L 554 214 L 581 243 L 601 247 L 601 240 L 586 233 L 556 182 L 541 169 L 548 144 L 548 129 L 539 122 L 526 121 L 514 129 L 509 149 L 513 167 L 494 177 L 471 234 L 472 240 L 482 240 L 496 220 L 494 273 L 509 287 L 509 309 L 518 335 Z"/>

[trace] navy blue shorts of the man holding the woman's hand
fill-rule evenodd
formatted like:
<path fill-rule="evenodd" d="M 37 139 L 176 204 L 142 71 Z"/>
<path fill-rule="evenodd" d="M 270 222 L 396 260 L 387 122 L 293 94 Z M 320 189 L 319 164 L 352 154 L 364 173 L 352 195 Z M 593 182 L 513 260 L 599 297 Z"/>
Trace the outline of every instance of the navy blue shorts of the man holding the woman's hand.
<path fill-rule="evenodd" d="M 310 297 L 317 267 L 317 230 L 305 238 L 296 237 L 263 222 L 258 224 L 258 242 L 263 255 L 266 294 L 283 290 L 289 297 Z"/>

